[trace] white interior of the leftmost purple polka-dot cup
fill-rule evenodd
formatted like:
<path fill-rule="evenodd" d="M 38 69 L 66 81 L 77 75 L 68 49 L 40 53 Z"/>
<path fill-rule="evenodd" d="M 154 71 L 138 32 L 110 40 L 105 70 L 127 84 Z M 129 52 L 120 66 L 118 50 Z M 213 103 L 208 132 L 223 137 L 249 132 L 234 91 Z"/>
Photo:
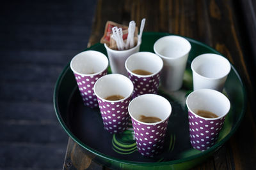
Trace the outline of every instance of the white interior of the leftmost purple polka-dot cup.
<path fill-rule="evenodd" d="M 77 74 L 97 74 L 108 67 L 108 58 L 103 53 L 88 50 L 78 53 L 71 60 L 70 67 Z"/>

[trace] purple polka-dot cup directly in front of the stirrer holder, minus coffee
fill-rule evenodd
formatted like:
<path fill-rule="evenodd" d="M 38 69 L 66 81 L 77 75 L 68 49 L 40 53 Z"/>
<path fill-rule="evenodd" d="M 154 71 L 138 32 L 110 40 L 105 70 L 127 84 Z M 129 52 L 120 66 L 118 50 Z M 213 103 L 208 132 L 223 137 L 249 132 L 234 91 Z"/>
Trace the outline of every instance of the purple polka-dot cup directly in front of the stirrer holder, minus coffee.
<path fill-rule="evenodd" d="M 132 54 L 125 61 L 125 68 L 134 85 L 132 97 L 142 94 L 157 94 L 163 60 L 151 52 L 138 52 Z M 133 73 L 134 70 L 148 71 L 152 74 L 141 75 Z"/>

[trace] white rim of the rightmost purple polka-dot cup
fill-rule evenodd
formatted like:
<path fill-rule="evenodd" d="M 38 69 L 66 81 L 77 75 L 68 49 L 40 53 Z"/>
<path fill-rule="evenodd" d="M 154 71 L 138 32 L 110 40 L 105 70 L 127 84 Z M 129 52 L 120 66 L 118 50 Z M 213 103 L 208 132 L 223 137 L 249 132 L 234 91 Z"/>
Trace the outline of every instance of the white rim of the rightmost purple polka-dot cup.
<path fill-rule="evenodd" d="M 203 91 L 203 90 L 212 91 L 212 92 L 218 93 L 221 96 L 225 97 L 228 100 L 228 111 L 227 111 L 227 113 L 225 113 L 225 114 L 223 114 L 223 115 L 221 115 L 220 117 L 217 117 L 217 118 L 205 118 L 205 117 L 201 117 L 201 116 L 197 115 L 194 111 L 192 111 L 191 108 L 188 106 L 189 96 L 193 95 L 194 92 Z M 200 118 L 202 118 L 204 120 L 219 120 L 220 118 L 223 118 L 223 117 L 227 116 L 228 112 L 230 111 L 230 101 L 229 101 L 228 97 L 225 96 L 223 93 L 221 93 L 221 92 L 219 92 L 217 90 L 212 90 L 212 89 L 198 89 L 198 90 L 194 90 L 193 92 L 191 92 L 188 95 L 188 97 L 186 99 L 186 106 L 188 107 L 189 112 L 192 113 L 193 115 L 195 115 L 195 117 L 200 117 Z"/>

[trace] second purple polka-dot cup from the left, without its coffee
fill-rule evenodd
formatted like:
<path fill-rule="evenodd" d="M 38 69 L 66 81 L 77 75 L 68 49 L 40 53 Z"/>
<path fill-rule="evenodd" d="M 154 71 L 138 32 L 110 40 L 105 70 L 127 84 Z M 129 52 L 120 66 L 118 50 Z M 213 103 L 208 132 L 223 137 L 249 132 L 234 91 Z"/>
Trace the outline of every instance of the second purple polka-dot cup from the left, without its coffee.
<path fill-rule="evenodd" d="M 125 131 L 129 123 L 128 106 L 131 101 L 133 85 L 122 74 L 102 76 L 94 85 L 104 128 L 112 133 Z M 115 101 L 107 100 L 109 96 L 123 96 Z"/>

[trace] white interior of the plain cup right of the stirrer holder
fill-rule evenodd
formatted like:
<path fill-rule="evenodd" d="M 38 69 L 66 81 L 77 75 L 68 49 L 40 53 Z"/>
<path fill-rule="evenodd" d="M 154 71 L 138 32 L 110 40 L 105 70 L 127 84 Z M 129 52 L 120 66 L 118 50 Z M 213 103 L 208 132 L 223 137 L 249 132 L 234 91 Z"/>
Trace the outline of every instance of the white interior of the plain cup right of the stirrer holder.
<path fill-rule="evenodd" d="M 175 59 L 189 53 L 191 45 L 189 41 L 180 36 L 164 36 L 154 44 L 154 52 L 166 59 Z"/>

